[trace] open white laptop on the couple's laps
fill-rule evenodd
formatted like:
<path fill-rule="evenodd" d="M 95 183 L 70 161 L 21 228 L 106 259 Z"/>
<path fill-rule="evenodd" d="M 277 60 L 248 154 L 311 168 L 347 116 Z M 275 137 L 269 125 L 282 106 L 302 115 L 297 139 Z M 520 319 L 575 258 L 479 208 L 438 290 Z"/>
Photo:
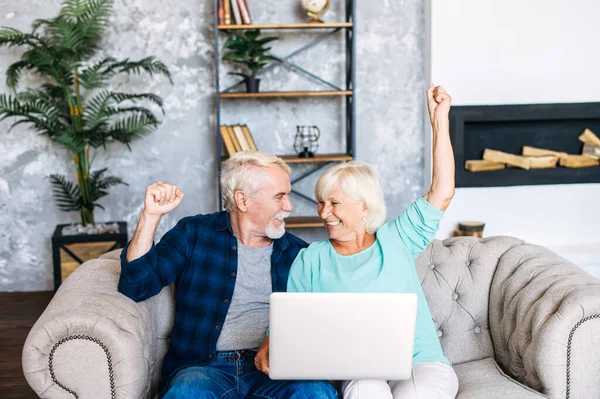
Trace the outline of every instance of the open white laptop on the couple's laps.
<path fill-rule="evenodd" d="M 269 377 L 410 378 L 415 294 L 273 293 Z"/>

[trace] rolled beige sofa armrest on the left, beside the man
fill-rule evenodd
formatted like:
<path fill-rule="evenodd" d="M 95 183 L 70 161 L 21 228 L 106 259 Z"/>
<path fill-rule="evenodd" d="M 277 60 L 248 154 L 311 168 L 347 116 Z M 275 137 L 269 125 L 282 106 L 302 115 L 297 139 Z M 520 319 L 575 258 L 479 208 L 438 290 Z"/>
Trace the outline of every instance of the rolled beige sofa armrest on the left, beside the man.
<path fill-rule="evenodd" d="M 173 324 L 172 289 L 140 303 L 120 294 L 119 253 L 79 266 L 29 332 L 23 372 L 40 397 L 153 394 Z"/>

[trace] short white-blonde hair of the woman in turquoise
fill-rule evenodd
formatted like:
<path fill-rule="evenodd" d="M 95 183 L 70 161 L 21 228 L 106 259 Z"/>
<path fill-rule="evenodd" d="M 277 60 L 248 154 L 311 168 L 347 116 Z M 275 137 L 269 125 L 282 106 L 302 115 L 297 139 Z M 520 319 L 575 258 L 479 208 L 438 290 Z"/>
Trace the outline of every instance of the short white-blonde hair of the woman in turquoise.
<path fill-rule="evenodd" d="M 340 163 L 328 169 L 317 181 L 315 198 L 324 201 L 329 193 L 340 187 L 357 202 L 363 202 L 369 214 L 365 220 L 367 233 L 374 233 L 385 222 L 385 200 L 379 173 L 366 162 Z"/>

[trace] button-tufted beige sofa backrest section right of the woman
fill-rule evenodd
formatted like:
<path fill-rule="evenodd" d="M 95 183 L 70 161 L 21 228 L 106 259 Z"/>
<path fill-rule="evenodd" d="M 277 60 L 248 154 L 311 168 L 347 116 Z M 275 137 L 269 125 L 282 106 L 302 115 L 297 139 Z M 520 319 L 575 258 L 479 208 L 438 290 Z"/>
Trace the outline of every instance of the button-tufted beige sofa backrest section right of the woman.
<path fill-rule="evenodd" d="M 488 323 L 498 259 L 523 241 L 511 237 L 434 240 L 415 265 L 444 353 L 452 364 L 494 357 Z"/>

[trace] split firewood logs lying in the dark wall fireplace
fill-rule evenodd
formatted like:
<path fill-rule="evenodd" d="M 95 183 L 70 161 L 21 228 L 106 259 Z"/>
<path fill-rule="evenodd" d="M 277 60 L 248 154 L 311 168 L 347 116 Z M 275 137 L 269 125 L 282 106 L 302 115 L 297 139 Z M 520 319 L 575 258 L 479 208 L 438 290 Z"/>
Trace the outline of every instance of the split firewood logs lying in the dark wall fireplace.
<path fill-rule="evenodd" d="M 465 169 L 471 172 L 499 170 L 506 167 L 521 169 L 587 168 L 600 165 L 600 138 L 590 129 L 585 129 L 579 136 L 583 142 L 581 154 L 567 154 L 544 148 L 524 146 L 521 155 L 509 154 L 486 148 L 483 159 L 472 159 L 465 162 Z"/>

